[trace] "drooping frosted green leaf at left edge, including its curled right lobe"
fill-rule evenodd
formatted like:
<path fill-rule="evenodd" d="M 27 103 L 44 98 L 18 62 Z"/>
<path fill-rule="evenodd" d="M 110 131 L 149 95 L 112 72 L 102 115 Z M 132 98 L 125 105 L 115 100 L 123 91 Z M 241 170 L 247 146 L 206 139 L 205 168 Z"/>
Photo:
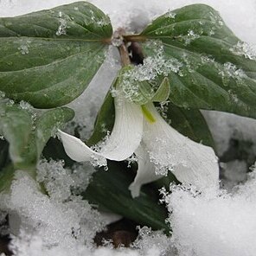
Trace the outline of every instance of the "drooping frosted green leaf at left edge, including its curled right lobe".
<path fill-rule="evenodd" d="M 10 144 L 10 158 L 16 169 L 35 166 L 48 138 L 74 117 L 67 107 L 44 112 L 41 116 L 22 105 L 0 102 L 0 130 Z"/>

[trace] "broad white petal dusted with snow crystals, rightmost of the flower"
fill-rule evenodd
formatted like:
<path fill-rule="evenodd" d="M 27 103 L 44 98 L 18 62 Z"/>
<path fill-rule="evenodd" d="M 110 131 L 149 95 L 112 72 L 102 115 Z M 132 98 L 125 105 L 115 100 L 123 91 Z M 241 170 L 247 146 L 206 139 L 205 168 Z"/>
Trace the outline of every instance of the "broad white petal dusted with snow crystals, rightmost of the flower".
<path fill-rule="evenodd" d="M 156 119 L 144 120 L 144 144 L 157 173 L 166 175 L 170 170 L 176 178 L 198 189 L 217 188 L 219 167 L 214 150 L 182 136 L 168 125 L 150 104 L 148 110 Z"/>

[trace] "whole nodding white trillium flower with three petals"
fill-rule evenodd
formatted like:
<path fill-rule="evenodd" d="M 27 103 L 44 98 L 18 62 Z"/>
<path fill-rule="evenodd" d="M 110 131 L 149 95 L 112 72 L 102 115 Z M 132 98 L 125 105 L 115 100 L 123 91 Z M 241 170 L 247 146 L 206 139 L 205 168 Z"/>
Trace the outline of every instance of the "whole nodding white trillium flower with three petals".
<path fill-rule="evenodd" d="M 180 182 L 198 189 L 218 187 L 219 168 L 212 148 L 195 143 L 173 129 L 152 103 L 138 106 L 118 95 L 114 104 L 112 134 L 100 150 L 93 150 L 79 138 L 60 131 L 69 157 L 77 162 L 100 157 L 123 161 L 135 153 L 138 172 L 129 188 L 133 197 L 139 195 L 143 184 L 157 180 L 168 171 Z"/>

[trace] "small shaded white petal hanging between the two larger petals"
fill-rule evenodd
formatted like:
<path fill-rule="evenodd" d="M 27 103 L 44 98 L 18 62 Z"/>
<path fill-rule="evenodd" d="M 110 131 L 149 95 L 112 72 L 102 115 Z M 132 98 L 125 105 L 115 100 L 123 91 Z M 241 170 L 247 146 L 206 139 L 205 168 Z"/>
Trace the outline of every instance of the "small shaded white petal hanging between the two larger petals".
<path fill-rule="evenodd" d="M 143 184 L 154 182 L 162 177 L 156 174 L 155 164 L 150 162 L 150 156 L 144 149 L 143 144 L 138 147 L 135 154 L 138 157 L 138 170 L 134 181 L 129 186 L 133 198 L 139 195 L 140 188 Z"/>

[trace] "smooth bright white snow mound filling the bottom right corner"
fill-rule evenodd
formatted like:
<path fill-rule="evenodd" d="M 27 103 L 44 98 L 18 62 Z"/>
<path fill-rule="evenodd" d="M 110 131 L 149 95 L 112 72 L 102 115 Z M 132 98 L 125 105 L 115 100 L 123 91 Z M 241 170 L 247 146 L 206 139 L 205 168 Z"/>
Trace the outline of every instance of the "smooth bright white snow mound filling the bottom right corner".
<path fill-rule="evenodd" d="M 172 212 L 171 240 L 180 256 L 233 256 L 255 254 L 255 172 L 233 194 L 196 193 L 176 187 L 167 197 Z"/>

